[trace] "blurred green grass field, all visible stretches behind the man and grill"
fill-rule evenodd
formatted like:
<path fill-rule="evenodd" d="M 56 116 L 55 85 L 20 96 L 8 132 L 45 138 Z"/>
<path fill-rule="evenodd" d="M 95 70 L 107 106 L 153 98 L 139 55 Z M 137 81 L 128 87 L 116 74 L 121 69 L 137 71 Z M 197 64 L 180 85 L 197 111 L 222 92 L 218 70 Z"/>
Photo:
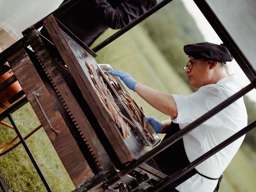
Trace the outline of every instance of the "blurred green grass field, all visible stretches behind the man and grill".
<path fill-rule="evenodd" d="M 113 30 L 108 30 L 95 44 L 113 32 Z M 97 53 L 97 62 L 108 63 L 114 69 L 124 70 L 139 82 L 152 88 L 174 94 L 190 94 L 190 87 L 172 68 L 147 33 L 143 26 L 136 26 L 100 50 Z M 181 57 L 186 58 L 185 55 Z M 180 64 L 180 70 L 182 70 L 182 66 L 184 66 L 183 62 Z M 140 99 L 136 93 L 131 92 L 131 94 L 138 104 L 143 106 L 147 116 L 155 116 L 160 120 L 167 118 Z M 23 136 L 40 124 L 29 104 L 15 112 L 13 117 Z M 0 147 L 2 147 L 15 137 L 15 132 L 10 128 L 0 126 L 0 135 Z M 73 190 L 74 185 L 44 130 L 36 132 L 27 140 L 27 143 L 52 191 L 70 192 Z M 256 191 L 255 159 L 255 153 L 250 150 L 250 147 L 244 146 L 243 150 L 239 150 L 224 172 L 219 192 Z M 10 192 L 46 191 L 22 146 L 0 157 L 0 175 Z"/>

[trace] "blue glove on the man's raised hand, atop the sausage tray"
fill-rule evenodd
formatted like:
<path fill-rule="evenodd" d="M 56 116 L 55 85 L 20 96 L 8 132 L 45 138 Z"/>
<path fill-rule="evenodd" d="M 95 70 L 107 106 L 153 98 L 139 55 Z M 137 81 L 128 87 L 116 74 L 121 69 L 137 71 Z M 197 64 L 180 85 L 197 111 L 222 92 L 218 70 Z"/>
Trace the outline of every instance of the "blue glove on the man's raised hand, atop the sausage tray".
<path fill-rule="evenodd" d="M 137 81 L 130 76 L 130 74 L 120 71 L 120 70 L 108 70 L 108 73 L 111 75 L 116 75 L 126 84 L 126 86 L 134 91 Z"/>

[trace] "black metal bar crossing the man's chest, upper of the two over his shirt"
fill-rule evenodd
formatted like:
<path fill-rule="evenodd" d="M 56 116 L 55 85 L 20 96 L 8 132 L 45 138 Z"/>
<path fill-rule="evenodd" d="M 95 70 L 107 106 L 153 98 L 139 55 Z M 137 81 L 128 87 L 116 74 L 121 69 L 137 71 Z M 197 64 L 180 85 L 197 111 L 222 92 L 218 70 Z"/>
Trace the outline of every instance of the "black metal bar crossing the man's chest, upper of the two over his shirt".
<path fill-rule="evenodd" d="M 242 97 L 246 93 L 248 93 L 250 90 L 254 88 L 254 84 L 256 83 L 256 80 L 231 96 L 230 98 L 226 99 L 224 102 L 218 104 L 216 107 L 214 107 L 212 110 L 208 111 L 206 114 L 202 115 L 200 118 L 195 120 L 194 122 L 190 123 L 185 128 L 179 130 L 177 133 L 170 136 L 168 139 L 161 142 L 157 147 L 153 148 L 151 151 L 147 152 L 143 156 L 141 156 L 138 160 L 133 161 L 126 169 L 119 172 L 119 176 L 122 177 L 128 173 L 130 173 L 132 170 L 134 170 L 136 167 L 138 167 L 140 164 L 146 162 L 147 160 L 150 160 L 172 144 L 174 144 L 176 141 L 178 141 L 184 134 L 187 134 L 188 132 L 192 131 L 194 128 L 196 128 L 198 125 L 202 124 L 218 112 L 220 112 L 222 109 L 226 108 L 230 104 L 232 104 L 234 101 L 236 101 L 238 98 Z"/>

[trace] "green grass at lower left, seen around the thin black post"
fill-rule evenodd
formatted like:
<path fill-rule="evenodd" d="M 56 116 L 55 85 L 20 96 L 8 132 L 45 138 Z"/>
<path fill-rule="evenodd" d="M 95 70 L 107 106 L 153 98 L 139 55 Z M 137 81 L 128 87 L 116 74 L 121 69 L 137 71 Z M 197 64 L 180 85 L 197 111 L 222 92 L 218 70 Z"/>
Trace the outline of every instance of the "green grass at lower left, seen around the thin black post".
<path fill-rule="evenodd" d="M 12 117 L 23 137 L 40 125 L 30 104 L 14 112 Z M 4 122 L 10 124 L 7 119 Z M 0 135 L 0 147 L 2 147 L 16 136 L 16 132 L 1 125 Z M 30 136 L 26 143 L 54 192 L 69 192 L 74 189 L 72 181 L 43 128 Z M 0 175 L 9 192 L 46 191 L 22 144 L 0 157 Z"/>

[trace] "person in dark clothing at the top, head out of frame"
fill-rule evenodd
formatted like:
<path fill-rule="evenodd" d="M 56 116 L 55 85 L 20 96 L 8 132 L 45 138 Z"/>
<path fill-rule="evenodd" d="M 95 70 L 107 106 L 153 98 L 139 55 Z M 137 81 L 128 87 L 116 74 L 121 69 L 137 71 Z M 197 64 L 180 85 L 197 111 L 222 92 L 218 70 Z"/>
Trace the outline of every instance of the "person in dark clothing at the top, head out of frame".
<path fill-rule="evenodd" d="M 123 28 L 156 3 L 156 0 L 81 0 L 57 18 L 90 46 L 108 28 Z"/>

